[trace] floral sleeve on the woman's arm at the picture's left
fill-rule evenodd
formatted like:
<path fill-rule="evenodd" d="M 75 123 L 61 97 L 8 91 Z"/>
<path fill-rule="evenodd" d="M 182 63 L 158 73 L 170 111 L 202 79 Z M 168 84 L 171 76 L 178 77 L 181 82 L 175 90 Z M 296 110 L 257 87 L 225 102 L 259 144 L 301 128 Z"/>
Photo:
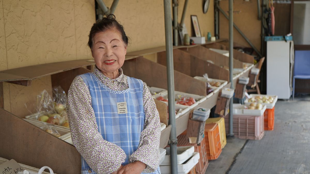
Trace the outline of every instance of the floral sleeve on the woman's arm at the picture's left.
<path fill-rule="evenodd" d="M 66 108 L 73 144 L 87 164 L 96 173 L 116 171 L 125 162 L 126 154 L 98 132 L 89 89 L 82 77 L 73 80 Z"/>

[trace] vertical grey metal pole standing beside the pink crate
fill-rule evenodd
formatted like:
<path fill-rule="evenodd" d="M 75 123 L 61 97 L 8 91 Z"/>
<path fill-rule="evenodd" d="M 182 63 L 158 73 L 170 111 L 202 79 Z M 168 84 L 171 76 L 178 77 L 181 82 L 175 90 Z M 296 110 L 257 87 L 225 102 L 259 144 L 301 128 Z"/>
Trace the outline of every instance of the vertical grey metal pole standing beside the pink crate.
<path fill-rule="evenodd" d="M 233 63 L 233 16 L 232 16 L 232 5 L 233 0 L 229 0 L 229 81 L 231 83 L 230 88 L 233 89 L 233 81 L 232 81 L 232 63 Z M 232 131 L 232 106 L 233 98 L 230 99 L 229 103 L 229 135 L 233 136 Z"/>

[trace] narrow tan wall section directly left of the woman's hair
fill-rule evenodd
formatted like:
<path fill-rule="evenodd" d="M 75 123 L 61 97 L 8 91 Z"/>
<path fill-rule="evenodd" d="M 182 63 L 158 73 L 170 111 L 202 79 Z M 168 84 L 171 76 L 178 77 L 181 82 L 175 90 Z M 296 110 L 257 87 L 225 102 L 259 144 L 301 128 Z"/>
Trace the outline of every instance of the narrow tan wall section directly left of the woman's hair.
<path fill-rule="evenodd" d="M 94 7 L 95 1 L 74 1 L 74 24 L 77 59 L 92 59 L 91 50 L 87 46 L 87 42 L 91 26 L 96 22 Z"/>

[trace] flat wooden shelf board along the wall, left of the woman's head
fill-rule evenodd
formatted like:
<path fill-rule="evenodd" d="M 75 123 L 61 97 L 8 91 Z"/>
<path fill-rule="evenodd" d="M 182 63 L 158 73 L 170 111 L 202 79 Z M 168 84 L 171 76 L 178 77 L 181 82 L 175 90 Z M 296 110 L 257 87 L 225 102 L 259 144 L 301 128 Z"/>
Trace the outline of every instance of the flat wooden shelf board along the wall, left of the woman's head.
<path fill-rule="evenodd" d="M 87 60 L 89 59 L 46 63 L 41 65 L 33 65 L 1 71 L 0 82 L 33 80 L 43 76 L 49 76 L 59 72 L 64 72 L 71 69 L 95 64 L 94 62 L 87 62 Z"/>

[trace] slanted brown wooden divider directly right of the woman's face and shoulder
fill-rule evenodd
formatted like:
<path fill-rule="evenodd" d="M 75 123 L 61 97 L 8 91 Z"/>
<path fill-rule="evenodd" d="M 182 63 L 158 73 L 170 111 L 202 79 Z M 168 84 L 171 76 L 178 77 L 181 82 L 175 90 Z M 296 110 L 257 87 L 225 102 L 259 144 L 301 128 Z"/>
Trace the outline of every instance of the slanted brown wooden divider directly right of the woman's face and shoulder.
<path fill-rule="evenodd" d="M 124 74 L 143 80 L 148 86 L 167 89 L 166 67 L 143 57 L 125 61 Z M 206 96 L 206 83 L 191 76 L 174 71 L 175 90 Z"/>

